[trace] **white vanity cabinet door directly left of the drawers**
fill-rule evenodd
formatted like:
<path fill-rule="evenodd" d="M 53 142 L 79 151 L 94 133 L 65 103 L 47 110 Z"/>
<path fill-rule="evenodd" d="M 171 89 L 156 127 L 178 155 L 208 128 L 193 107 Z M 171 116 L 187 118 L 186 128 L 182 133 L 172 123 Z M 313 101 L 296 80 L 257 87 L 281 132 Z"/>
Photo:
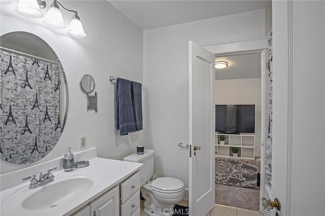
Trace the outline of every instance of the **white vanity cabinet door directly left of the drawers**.
<path fill-rule="evenodd" d="M 119 186 L 90 202 L 90 216 L 116 216 L 119 214 Z"/>

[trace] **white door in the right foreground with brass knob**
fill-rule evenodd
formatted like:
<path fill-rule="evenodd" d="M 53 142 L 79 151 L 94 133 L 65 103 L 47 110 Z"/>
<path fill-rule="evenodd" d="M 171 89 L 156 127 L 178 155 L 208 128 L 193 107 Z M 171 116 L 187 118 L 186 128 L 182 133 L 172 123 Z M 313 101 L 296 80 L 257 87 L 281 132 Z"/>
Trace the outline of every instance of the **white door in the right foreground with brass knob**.
<path fill-rule="evenodd" d="M 325 215 L 324 12 L 324 1 L 272 1 L 272 216 Z"/>

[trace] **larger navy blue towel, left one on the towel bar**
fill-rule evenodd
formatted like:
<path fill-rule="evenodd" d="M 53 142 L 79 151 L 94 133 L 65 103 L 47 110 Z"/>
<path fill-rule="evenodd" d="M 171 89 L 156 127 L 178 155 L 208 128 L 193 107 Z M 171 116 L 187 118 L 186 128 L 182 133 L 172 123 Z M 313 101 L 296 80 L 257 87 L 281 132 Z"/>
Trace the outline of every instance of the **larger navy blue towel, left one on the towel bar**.
<path fill-rule="evenodd" d="M 115 126 L 120 135 L 135 132 L 136 124 L 132 102 L 132 83 L 129 80 L 118 79 L 116 84 Z"/>

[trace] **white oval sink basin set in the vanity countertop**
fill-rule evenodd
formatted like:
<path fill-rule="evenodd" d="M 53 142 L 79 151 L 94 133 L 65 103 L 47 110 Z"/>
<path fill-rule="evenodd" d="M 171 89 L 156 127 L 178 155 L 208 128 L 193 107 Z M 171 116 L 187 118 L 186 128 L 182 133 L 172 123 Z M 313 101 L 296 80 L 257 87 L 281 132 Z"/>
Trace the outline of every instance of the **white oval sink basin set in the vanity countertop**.
<path fill-rule="evenodd" d="M 92 173 L 71 173 L 54 177 L 54 181 L 36 189 L 25 186 L 8 196 L 3 207 L 20 205 L 26 210 L 43 210 L 60 206 L 82 197 L 100 177 Z"/>

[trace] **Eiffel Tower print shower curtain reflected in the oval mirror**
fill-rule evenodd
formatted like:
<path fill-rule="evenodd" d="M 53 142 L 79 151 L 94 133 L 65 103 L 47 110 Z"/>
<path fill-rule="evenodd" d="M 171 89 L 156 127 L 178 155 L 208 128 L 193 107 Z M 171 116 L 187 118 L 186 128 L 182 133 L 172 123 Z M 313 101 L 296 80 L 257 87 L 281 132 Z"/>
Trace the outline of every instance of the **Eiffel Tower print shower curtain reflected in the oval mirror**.
<path fill-rule="evenodd" d="M 1 158 L 26 164 L 47 155 L 59 139 L 61 64 L 1 51 Z"/>

